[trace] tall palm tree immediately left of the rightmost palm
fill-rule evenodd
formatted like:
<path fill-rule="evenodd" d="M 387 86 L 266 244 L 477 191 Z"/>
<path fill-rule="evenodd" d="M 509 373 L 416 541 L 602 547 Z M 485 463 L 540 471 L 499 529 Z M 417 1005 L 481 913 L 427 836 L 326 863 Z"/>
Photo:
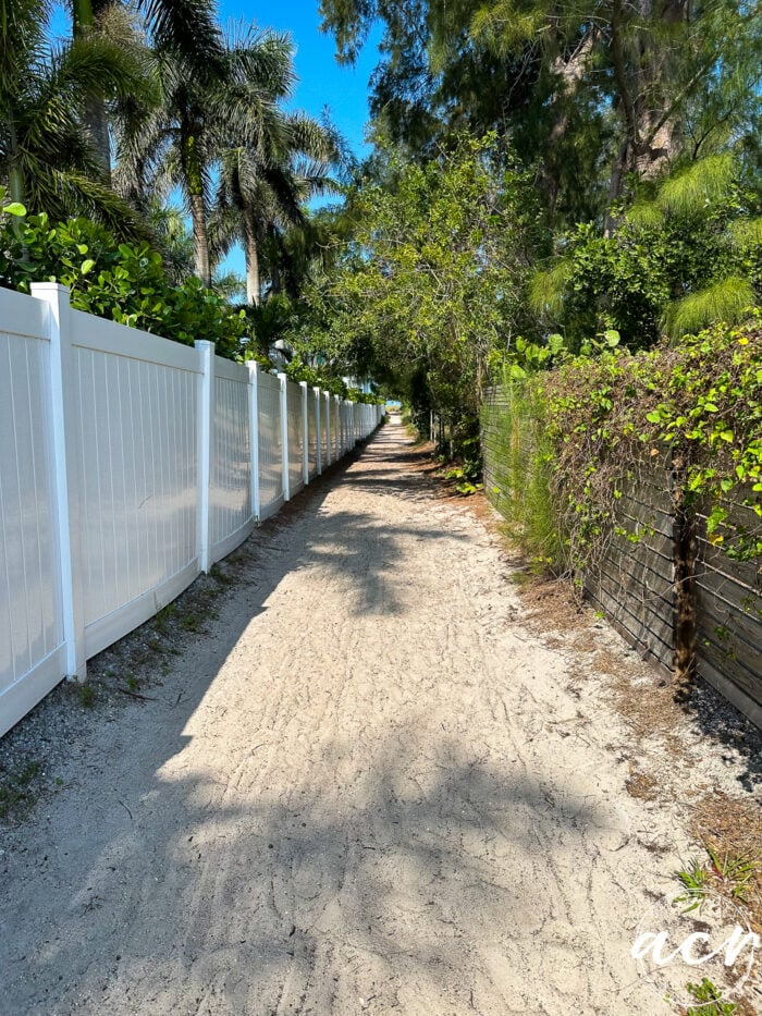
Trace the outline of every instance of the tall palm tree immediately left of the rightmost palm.
<path fill-rule="evenodd" d="M 210 51 L 205 72 L 197 73 L 174 47 L 152 53 L 158 101 L 135 105 L 121 125 L 116 180 L 123 193 L 145 201 L 151 193 L 180 187 L 193 222 L 196 274 L 211 285 L 207 218 L 212 170 L 230 138 L 258 150 L 263 125 L 276 97 L 293 79 L 291 42 L 285 35 L 242 27 L 225 38 L 222 57 Z"/>

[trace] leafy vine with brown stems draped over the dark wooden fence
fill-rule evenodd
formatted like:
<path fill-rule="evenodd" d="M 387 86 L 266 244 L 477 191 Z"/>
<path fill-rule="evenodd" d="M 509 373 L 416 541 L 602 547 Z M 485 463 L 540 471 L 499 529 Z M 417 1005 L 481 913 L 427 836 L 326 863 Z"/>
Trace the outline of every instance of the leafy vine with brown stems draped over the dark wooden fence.
<path fill-rule="evenodd" d="M 528 376 L 512 392 L 524 400 L 512 418 L 533 428 L 515 442 L 517 454 L 528 456 L 515 469 L 516 518 L 527 525 L 521 474 L 544 467 L 550 503 L 541 518 L 563 537 L 549 555 L 556 571 L 589 567 L 614 526 L 624 486 L 667 463 L 686 509 L 706 514 L 713 543 L 735 558 L 762 556 L 762 525 L 753 531 L 726 525 L 733 501 L 762 517 L 759 315 L 740 329 L 687 336 L 679 347 L 599 348 Z"/>

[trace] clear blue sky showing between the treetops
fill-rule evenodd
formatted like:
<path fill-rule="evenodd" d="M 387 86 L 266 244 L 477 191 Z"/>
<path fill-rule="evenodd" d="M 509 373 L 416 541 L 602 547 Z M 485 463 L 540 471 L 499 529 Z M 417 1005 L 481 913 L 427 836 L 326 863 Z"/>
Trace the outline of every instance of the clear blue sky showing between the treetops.
<path fill-rule="evenodd" d="M 262 28 L 287 32 L 294 41 L 294 64 L 298 83 L 293 103 L 319 117 L 329 107 L 331 119 L 347 138 L 357 156 L 369 152 L 364 142 L 368 119 L 368 79 L 378 61 L 378 36 L 364 48 L 357 65 L 340 66 L 334 58 L 334 40 L 319 30 L 318 0 L 290 0 L 285 3 L 265 0 L 218 0 L 220 21 L 256 22 Z M 53 34 L 67 35 L 69 17 L 58 10 L 52 22 Z M 244 259 L 235 252 L 225 267 L 243 273 Z"/>

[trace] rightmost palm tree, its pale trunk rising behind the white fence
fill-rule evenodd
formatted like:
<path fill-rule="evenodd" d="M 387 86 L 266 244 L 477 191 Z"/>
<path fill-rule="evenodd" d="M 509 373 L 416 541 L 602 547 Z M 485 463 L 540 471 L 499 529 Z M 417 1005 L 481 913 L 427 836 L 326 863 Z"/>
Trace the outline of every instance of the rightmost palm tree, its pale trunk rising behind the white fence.
<path fill-rule="evenodd" d="M 273 290 L 278 278 L 282 228 L 305 227 L 303 205 L 310 197 L 337 191 L 329 176 L 340 158 L 330 126 L 304 113 L 285 114 L 274 108 L 263 124 L 259 144 L 228 148 L 222 156 L 216 201 L 216 252 L 223 256 L 241 242 L 246 257 L 246 299 L 261 299 L 260 261 L 265 247 L 270 258 Z"/>

